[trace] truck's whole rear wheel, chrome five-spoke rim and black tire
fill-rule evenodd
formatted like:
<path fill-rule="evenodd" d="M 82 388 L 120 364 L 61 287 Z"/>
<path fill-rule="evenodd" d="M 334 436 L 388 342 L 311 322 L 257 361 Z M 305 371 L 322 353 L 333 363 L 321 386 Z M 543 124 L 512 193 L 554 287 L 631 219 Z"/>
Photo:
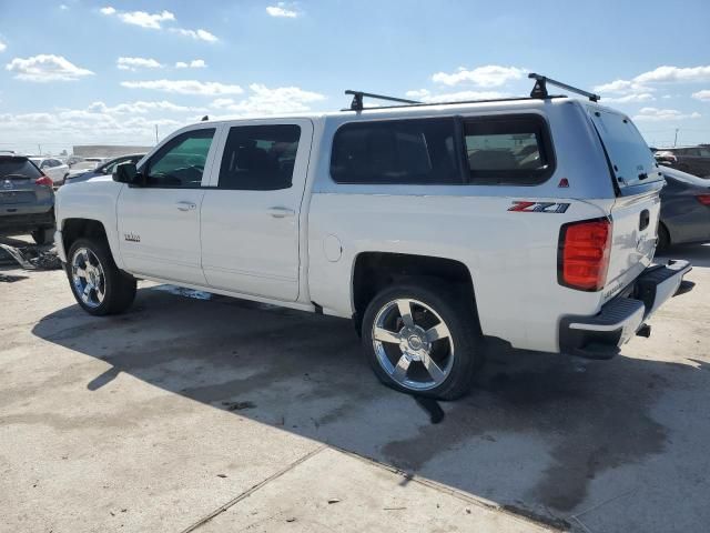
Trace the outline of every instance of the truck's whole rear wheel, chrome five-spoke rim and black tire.
<path fill-rule="evenodd" d="M 402 283 L 379 292 L 363 318 L 365 356 L 398 391 L 455 400 L 483 361 L 473 299 L 446 283 Z"/>

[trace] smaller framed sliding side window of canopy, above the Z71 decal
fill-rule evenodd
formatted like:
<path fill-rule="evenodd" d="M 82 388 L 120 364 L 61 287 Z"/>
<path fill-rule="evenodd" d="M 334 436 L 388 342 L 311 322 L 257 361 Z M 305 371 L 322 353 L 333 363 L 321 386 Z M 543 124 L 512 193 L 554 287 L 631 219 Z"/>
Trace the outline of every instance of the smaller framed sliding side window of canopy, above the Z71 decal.
<path fill-rule="evenodd" d="M 464 121 L 471 184 L 532 185 L 552 174 L 552 151 L 541 118 Z"/>

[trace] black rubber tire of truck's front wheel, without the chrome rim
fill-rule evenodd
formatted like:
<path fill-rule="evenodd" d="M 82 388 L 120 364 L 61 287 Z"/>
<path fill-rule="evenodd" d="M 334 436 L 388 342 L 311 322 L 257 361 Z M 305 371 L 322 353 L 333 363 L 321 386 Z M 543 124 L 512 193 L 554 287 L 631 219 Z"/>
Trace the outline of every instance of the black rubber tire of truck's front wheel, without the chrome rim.
<path fill-rule="evenodd" d="M 72 262 L 78 251 L 87 249 L 93 253 L 101 263 L 103 270 L 103 300 L 98 305 L 84 302 L 74 284 L 72 276 Z M 67 276 L 71 292 L 77 303 L 90 314 L 102 316 L 118 314 L 131 306 L 135 299 L 135 279 L 119 270 L 111 255 L 109 244 L 98 237 L 77 239 L 69 249 L 67 257 Z"/>

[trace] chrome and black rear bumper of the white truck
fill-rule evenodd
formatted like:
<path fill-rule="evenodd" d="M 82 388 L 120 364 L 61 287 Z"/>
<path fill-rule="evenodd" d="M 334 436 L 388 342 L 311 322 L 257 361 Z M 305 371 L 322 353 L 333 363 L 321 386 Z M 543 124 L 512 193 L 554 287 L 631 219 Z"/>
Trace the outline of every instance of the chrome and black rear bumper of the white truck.
<path fill-rule="evenodd" d="M 648 336 L 650 328 L 645 322 L 658 308 L 676 294 L 692 289 L 692 283 L 683 282 L 683 275 L 691 268 L 688 261 L 649 266 L 596 315 L 562 318 L 560 351 L 590 359 L 610 359 L 637 333 Z"/>

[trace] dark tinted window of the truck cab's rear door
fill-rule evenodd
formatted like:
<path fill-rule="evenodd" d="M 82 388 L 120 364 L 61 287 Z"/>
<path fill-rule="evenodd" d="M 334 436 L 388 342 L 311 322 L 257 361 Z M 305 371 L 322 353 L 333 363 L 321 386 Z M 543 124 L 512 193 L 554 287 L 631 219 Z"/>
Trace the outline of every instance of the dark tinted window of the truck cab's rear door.
<path fill-rule="evenodd" d="M 291 188 L 301 127 L 239 125 L 230 129 L 220 167 L 220 189 L 276 191 Z"/>

